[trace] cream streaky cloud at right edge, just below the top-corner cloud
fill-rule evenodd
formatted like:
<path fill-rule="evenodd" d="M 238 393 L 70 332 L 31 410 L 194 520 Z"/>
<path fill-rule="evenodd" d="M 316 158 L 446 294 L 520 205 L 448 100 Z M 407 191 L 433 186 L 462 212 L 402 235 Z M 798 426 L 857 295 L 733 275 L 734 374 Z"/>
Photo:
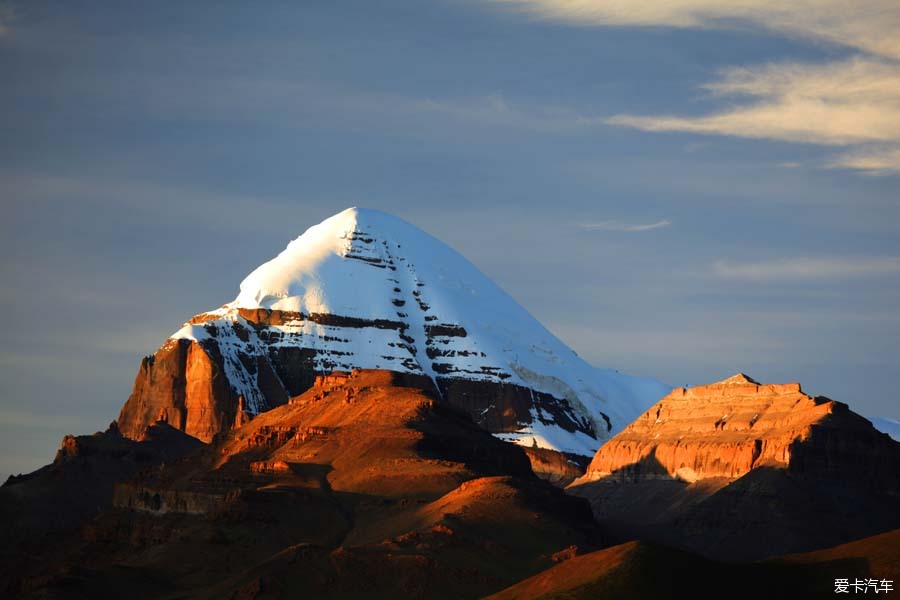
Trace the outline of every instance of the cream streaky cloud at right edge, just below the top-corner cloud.
<path fill-rule="evenodd" d="M 900 171 L 900 64 L 854 59 L 729 69 L 707 86 L 750 103 L 700 117 L 616 115 L 613 125 L 850 146 L 832 166 Z"/>

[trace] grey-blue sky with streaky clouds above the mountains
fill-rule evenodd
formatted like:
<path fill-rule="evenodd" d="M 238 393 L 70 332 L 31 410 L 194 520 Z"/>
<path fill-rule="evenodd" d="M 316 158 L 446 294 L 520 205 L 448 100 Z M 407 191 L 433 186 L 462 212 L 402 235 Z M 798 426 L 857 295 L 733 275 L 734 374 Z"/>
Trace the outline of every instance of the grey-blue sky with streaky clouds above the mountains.
<path fill-rule="evenodd" d="M 0 475 L 354 205 L 595 364 L 900 418 L 892 2 L 161 4 L 0 2 Z"/>

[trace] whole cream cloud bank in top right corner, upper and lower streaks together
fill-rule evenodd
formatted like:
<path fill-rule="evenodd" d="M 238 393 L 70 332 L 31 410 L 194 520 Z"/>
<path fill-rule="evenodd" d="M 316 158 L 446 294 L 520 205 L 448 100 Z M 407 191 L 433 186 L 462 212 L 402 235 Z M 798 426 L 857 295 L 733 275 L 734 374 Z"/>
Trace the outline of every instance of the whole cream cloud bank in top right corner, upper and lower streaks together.
<path fill-rule="evenodd" d="M 619 114 L 607 123 L 844 148 L 825 166 L 900 172 L 900 4 L 895 0 L 495 0 L 540 19 L 582 26 L 758 27 L 843 45 L 856 53 L 825 64 L 780 63 L 723 71 L 704 86 L 742 99 L 700 116 Z"/>

